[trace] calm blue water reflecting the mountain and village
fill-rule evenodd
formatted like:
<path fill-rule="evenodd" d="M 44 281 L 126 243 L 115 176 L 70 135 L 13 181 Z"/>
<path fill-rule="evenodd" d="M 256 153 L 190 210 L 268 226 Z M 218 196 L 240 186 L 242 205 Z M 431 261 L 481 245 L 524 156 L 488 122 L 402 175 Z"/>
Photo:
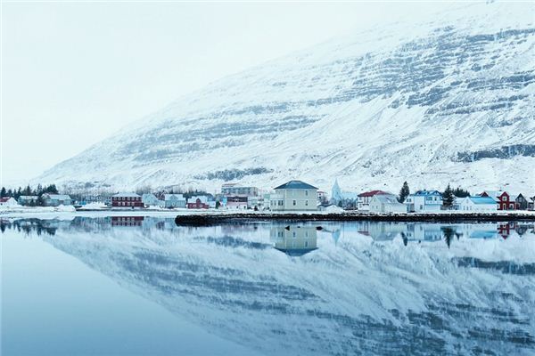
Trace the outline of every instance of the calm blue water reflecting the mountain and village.
<path fill-rule="evenodd" d="M 2 355 L 535 354 L 533 223 L 1 228 Z"/>

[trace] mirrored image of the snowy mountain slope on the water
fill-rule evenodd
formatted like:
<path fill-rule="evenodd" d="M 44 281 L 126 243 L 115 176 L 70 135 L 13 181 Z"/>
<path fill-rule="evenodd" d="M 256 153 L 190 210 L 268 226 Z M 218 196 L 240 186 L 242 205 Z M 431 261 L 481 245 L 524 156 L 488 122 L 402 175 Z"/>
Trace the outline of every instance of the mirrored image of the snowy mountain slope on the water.
<path fill-rule="evenodd" d="M 460 239 L 447 250 L 378 242 L 352 233 L 358 229 L 346 224 L 336 244 L 318 233 L 317 251 L 300 257 L 272 247 L 270 225 L 60 229 L 46 241 L 170 312 L 267 354 L 535 350 L 535 276 L 450 261 L 465 250 L 497 258 L 532 251 L 532 236 Z"/>

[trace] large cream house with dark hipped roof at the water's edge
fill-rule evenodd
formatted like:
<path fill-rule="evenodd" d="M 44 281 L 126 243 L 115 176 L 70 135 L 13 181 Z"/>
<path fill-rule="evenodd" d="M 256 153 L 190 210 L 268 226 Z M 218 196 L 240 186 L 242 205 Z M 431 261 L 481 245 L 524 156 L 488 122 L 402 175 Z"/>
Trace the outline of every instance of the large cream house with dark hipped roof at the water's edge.
<path fill-rule="evenodd" d="M 279 185 L 269 197 L 271 211 L 316 211 L 317 188 L 306 182 L 290 181 Z"/>

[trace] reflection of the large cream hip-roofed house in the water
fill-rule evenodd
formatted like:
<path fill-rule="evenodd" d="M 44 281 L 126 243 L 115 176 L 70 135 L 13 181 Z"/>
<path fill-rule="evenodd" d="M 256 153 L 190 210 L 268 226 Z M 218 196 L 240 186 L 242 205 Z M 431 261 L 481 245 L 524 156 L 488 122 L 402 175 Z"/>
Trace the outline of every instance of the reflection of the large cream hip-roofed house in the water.
<path fill-rule="evenodd" d="M 275 241 L 275 248 L 287 255 L 300 256 L 317 249 L 317 231 L 315 227 L 278 226 L 269 232 Z"/>

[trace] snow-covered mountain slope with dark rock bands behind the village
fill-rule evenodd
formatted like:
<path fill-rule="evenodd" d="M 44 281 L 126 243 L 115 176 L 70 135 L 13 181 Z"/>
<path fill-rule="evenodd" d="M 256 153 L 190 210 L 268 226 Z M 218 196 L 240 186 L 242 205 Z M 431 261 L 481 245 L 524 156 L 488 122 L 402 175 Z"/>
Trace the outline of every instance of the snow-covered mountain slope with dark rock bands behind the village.
<path fill-rule="evenodd" d="M 469 4 L 334 38 L 172 102 L 36 182 L 533 190 L 534 19 L 532 3 Z"/>

